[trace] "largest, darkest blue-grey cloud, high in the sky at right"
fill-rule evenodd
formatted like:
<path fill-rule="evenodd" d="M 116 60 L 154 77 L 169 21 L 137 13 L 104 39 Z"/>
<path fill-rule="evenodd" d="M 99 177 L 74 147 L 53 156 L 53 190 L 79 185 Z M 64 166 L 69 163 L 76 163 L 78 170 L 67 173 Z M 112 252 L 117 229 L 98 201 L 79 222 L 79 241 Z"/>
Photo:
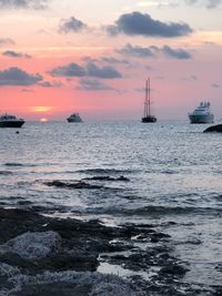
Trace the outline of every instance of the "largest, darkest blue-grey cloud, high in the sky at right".
<path fill-rule="evenodd" d="M 192 29 L 186 23 L 164 23 L 153 20 L 147 13 L 134 11 L 122 14 L 114 25 L 107 27 L 107 31 L 111 35 L 124 33 L 127 35 L 173 38 L 190 34 Z"/>

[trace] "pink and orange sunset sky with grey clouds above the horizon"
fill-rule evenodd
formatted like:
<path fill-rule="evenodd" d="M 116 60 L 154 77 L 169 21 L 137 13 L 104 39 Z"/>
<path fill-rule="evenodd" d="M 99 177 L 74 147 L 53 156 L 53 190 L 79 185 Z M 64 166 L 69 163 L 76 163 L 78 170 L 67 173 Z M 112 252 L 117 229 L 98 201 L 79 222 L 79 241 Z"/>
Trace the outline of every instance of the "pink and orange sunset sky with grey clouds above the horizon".
<path fill-rule="evenodd" d="M 222 119 L 222 0 L 0 0 L 0 112 Z"/>

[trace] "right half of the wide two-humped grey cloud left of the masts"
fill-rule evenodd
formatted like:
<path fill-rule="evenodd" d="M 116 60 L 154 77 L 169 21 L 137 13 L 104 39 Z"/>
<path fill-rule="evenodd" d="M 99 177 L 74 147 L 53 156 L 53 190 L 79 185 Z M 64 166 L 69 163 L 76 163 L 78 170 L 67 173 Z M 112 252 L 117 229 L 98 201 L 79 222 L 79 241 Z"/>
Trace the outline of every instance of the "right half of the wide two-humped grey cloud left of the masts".
<path fill-rule="evenodd" d="M 88 75 L 102 79 L 122 78 L 121 73 L 112 67 L 99 68 L 95 63 L 88 63 Z"/>

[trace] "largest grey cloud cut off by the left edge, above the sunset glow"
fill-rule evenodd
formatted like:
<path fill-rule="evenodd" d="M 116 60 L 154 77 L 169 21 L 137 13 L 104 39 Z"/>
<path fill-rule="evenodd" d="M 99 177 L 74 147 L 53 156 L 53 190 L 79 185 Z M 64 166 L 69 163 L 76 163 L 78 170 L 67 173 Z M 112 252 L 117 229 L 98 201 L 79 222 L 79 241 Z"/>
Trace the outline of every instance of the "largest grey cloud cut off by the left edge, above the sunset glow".
<path fill-rule="evenodd" d="M 0 71 L 0 86 L 3 85 L 33 85 L 42 81 L 42 75 L 40 74 L 29 74 L 28 72 L 12 67 L 7 70 Z"/>

